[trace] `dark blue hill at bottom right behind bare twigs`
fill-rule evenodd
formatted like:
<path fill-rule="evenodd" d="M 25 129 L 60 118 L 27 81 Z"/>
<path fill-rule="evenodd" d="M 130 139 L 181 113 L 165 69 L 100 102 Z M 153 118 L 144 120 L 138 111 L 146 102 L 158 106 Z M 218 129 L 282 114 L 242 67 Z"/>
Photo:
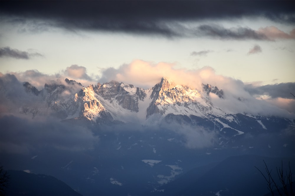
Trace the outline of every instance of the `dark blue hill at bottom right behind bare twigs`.
<path fill-rule="evenodd" d="M 272 170 L 272 177 L 279 187 L 281 183 L 276 168 L 281 168 L 282 161 L 284 175 L 289 172 L 290 161 L 294 179 L 294 158 L 242 155 L 226 158 L 211 166 L 195 168 L 160 189 L 164 190 L 163 195 L 266 195 L 269 192 L 267 182 L 255 168 L 259 168 L 268 177 L 263 160 L 268 169 Z"/>

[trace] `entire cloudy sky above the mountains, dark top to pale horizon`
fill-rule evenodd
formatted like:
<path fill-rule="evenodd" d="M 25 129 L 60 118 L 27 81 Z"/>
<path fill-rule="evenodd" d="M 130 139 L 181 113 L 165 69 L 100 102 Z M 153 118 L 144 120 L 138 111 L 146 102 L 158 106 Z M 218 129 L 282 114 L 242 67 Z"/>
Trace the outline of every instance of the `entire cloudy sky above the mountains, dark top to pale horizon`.
<path fill-rule="evenodd" d="M 295 1 L 1 1 L 0 72 L 68 73 L 83 84 L 126 82 L 129 68 L 158 71 L 154 82 L 167 68 L 209 67 L 244 83 L 294 82 L 294 8 Z"/>

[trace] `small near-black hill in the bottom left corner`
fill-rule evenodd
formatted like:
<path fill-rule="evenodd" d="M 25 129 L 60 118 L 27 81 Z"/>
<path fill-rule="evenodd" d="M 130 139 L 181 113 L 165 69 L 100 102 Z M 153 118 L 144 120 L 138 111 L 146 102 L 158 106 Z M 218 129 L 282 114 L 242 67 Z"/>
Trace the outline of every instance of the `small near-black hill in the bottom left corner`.
<path fill-rule="evenodd" d="M 8 170 L 6 195 L 81 195 L 55 177 Z"/>

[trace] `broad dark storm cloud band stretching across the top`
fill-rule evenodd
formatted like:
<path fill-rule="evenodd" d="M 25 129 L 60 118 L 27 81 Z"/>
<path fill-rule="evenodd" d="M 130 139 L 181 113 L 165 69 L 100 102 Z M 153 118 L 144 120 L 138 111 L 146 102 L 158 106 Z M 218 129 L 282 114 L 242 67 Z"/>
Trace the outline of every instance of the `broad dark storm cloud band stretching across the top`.
<path fill-rule="evenodd" d="M 178 22 L 202 19 L 266 17 L 293 24 L 294 1 L 1 1 L 1 15 L 51 21 L 55 26 L 76 31 L 100 30 L 162 36 L 184 36 Z M 38 29 L 38 28 L 37 28 Z M 210 31 L 201 26 L 201 31 Z M 222 29 L 218 29 L 219 31 Z M 250 29 L 241 33 L 257 37 Z M 222 30 L 221 38 L 232 34 Z M 260 38 L 259 36 L 255 39 Z"/>

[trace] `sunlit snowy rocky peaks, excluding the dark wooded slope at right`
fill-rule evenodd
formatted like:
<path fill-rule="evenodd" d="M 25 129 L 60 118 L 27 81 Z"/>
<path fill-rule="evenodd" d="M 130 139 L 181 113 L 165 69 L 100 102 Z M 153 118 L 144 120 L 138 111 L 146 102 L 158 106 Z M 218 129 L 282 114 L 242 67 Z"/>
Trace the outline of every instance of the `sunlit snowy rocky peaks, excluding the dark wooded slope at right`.
<path fill-rule="evenodd" d="M 23 86 L 27 93 L 40 96 L 40 101 L 44 101 L 48 109 L 62 120 L 140 120 L 143 123 L 155 114 L 161 118 L 171 113 L 202 118 L 228 114 L 210 101 L 209 93 L 223 98 L 223 91 L 217 87 L 206 84 L 203 89 L 197 90 L 176 85 L 164 77 L 147 90 L 117 81 L 82 87 L 81 83 L 68 79 L 63 83 L 45 84 L 41 91 L 28 82 L 24 82 Z"/>

